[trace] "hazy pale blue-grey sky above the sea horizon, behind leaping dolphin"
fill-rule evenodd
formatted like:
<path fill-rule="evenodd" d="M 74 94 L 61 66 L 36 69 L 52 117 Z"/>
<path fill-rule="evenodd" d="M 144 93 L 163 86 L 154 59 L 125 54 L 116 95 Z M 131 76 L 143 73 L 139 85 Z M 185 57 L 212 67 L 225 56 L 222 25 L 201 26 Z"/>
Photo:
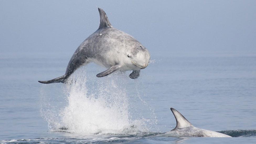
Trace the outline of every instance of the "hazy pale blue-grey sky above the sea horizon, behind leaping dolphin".
<path fill-rule="evenodd" d="M 151 55 L 256 54 L 256 1 L 0 1 L 0 54 L 71 57 L 98 29 L 98 7 Z"/>

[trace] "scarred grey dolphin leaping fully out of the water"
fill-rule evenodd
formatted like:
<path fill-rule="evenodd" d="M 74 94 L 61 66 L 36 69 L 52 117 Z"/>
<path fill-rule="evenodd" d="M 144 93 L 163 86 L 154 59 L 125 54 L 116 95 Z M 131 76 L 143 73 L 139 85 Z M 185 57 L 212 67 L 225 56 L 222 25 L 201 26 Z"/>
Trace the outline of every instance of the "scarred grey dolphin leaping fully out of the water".
<path fill-rule="evenodd" d="M 38 81 L 40 83 L 65 83 L 66 79 L 79 67 L 94 62 L 108 68 L 97 74 L 97 77 L 107 76 L 117 70 L 130 71 L 130 78 L 140 76 L 140 70 L 148 66 L 150 54 L 146 47 L 134 39 L 131 35 L 113 28 L 103 9 L 98 8 L 100 13 L 100 25 L 77 48 L 71 57 L 66 73 L 49 81 Z"/>

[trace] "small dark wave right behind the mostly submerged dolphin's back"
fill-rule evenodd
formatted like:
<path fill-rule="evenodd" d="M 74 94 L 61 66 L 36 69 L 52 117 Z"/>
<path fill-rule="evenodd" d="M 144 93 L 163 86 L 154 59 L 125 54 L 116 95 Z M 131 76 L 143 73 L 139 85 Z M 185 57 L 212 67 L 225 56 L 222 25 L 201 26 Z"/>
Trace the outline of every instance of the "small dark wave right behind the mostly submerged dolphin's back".
<path fill-rule="evenodd" d="M 218 132 L 232 136 L 232 137 L 256 136 L 256 130 L 225 130 L 225 131 L 218 131 Z"/>

